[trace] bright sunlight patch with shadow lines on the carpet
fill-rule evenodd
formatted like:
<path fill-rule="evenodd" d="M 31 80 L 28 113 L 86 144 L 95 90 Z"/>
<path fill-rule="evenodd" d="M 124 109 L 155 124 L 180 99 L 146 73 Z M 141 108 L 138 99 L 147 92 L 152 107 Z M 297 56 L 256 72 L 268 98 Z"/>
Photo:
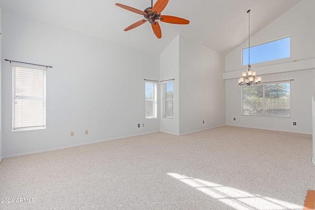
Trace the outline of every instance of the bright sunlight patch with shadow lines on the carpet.
<path fill-rule="evenodd" d="M 296 210 L 303 208 L 303 206 L 297 204 L 252 194 L 244 190 L 223 186 L 206 180 L 195 179 L 176 173 L 167 173 L 167 175 L 218 199 L 236 210 Z"/>

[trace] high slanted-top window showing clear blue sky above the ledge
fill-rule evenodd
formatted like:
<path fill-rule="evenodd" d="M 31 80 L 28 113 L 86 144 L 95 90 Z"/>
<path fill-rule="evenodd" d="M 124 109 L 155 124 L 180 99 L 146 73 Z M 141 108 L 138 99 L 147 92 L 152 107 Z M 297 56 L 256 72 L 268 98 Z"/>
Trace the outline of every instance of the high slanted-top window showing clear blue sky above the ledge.
<path fill-rule="evenodd" d="M 249 63 L 249 48 L 244 48 L 243 52 L 243 65 Z M 250 48 L 251 63 L 259 63 L 270 60 L 278 60 L 290 57 L 290 37 L 278 39 L 275 41 L 267 42 L 252 46 Z"/>

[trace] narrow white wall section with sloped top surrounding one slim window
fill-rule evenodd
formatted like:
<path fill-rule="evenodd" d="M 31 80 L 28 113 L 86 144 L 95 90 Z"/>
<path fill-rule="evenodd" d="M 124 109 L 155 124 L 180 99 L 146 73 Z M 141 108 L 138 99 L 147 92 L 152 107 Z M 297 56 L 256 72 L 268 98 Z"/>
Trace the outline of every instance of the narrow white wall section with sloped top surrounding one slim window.
<path fill-rule="evenodd" d="M 165 133 L 179 135 L 179 35 L 160 54 L 160 81 L 174 79 L 173 81 L 173 119 L 162 118 L 160 110 L 160 130 Z M 160 86 L 162 92 L 162 86 Z M 160 94 L 160 107 L 162 107 L 162 94 Z"/>

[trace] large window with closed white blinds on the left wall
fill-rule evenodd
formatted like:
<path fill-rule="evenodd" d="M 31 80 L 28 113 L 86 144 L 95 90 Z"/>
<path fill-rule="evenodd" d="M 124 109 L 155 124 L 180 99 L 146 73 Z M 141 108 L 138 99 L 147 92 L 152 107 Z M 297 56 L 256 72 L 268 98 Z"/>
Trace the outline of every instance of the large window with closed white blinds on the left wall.
<path fill-rule="evenodd" d="M 46 127 L 46 70 L 12 66 L 12 129 Z"/>

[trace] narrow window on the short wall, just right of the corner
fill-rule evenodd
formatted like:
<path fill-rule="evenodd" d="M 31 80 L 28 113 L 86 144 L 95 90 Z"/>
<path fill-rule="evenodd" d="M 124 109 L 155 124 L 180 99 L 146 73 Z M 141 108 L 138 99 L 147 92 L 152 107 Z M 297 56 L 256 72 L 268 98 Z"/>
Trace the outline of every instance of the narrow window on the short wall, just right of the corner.
<path fill-rule="evenodd" d="M 173 82 L 163 83 L 163 118 L 173 119 Z"/>

